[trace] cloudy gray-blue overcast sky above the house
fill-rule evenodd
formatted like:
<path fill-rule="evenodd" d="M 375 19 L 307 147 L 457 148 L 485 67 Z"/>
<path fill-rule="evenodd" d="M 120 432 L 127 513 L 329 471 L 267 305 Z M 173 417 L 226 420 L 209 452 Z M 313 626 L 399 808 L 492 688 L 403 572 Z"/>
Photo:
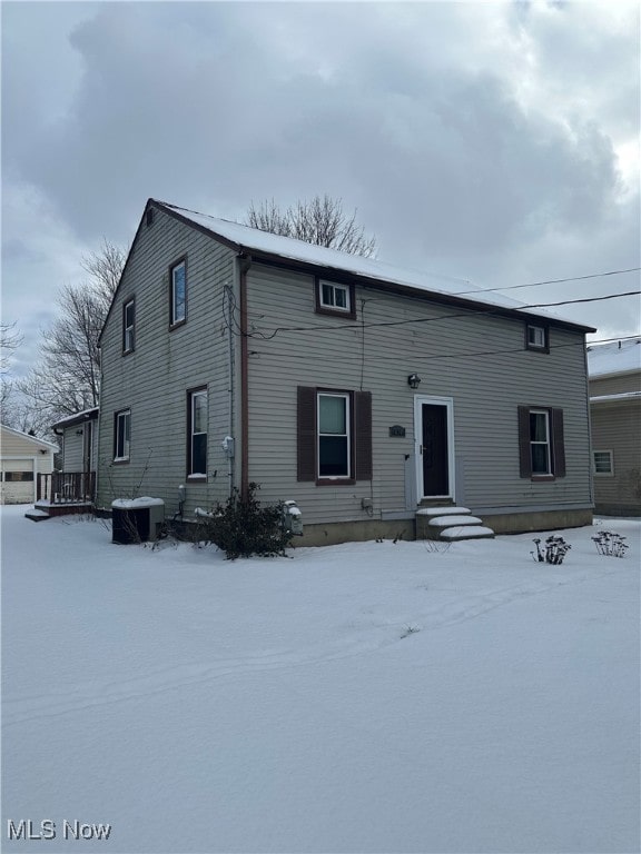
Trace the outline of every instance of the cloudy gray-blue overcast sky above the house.
<path fill-rule="evenodd" d="M 327 192 L 381 260 L 485 288 L 639 267 L 639 4 L 617 0 L 3 2 L 17 374 L 82 256 L 127 246 L 149 197 L 240 219 Z M 558 310 L 592 338 L 641 327 L 638 297 Z"/>

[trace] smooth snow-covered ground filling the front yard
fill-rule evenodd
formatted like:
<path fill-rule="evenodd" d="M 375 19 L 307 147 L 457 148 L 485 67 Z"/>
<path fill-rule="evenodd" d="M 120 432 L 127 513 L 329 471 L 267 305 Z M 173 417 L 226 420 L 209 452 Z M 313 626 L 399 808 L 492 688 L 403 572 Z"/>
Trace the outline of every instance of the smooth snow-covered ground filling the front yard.
<path fill-rule="evenodd" d="M 233 563 L 24 509 L 3 852 L 639 851 L 639 522 L 561 566 L 532 535 Z"/>

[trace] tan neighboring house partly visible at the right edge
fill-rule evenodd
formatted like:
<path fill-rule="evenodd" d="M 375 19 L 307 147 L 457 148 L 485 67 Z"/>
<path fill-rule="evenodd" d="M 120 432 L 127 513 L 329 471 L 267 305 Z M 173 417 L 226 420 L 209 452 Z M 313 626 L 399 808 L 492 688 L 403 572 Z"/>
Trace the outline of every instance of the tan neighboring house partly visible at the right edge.
<path fill-rule="evenodd" d="M 596 513 L 641 516 L 641 338 L 588 348 Z"/>

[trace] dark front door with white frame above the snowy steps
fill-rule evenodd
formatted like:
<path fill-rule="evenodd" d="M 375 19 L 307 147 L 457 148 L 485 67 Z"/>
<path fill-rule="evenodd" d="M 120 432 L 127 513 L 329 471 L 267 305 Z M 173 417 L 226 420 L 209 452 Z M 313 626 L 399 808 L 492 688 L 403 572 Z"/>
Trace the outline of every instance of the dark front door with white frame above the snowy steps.
<path fill-rule="evenodd" d="M 453 498 L 452 400 L 417 397 L 415 416 L 418 500 Z"/>

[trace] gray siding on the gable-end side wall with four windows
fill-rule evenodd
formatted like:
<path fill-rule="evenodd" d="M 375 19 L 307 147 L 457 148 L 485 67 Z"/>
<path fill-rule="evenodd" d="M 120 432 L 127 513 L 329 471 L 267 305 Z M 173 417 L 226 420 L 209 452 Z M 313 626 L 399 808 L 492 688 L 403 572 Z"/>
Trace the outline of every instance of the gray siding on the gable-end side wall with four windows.
<path fill-rule="evenodd" d="M 187 321 L 169 330 L 169 265 L 187 256 Z M 225 286 L 235 286 L 234 254 L 155 210 L 141 225 L 102 336 L 98 505 L 116 497 L 162 498 L 186 515 L 229 494 L 220 443 L 230 431 L 229 330 Z M 135 350 L 122 355 L 122 305 L 135 297 Z M 234 339 L 234 346 L 237 342 Z M 207 483 L 187 480 L 187 391 L 208 390 Z M 130 461 L 114 464 L 115 413 L 131 410 Z"/>

